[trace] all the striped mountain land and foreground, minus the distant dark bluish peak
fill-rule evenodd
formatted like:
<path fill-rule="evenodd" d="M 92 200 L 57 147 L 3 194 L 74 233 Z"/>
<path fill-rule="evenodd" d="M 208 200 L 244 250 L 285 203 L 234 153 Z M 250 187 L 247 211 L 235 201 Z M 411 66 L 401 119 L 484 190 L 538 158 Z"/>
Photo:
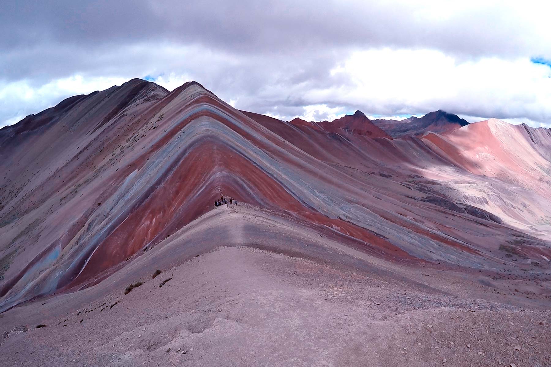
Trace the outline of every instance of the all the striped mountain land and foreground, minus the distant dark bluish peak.
<path fill-rule="evenodd" d="M 2 365 L 544 365 L 550 155 L 548 129 L 392 139 L 195 81 L 68 98 L 0 130 Z"/>

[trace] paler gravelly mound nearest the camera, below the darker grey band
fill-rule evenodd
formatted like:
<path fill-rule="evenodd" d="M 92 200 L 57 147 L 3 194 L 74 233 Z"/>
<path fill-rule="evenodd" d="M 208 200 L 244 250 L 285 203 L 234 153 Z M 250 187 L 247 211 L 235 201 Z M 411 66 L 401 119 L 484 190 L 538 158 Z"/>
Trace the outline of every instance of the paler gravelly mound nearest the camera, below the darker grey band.
<path fill-rule="evenodd" d="M 549 311 L 425 293 L 244 247 L 218 248 L 78 311 L 46 302 L 13 313 L 47 326 L 10 332 L 2 365 L 550 363 Z"/>

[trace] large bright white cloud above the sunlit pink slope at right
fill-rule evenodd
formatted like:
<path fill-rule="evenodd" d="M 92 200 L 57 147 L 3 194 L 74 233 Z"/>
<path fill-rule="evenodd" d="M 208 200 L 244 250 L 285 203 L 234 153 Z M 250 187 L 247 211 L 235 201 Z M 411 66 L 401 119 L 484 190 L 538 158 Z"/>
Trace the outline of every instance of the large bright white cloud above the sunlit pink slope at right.
<path fill-rule="evenodd" d="M 376 114 L 444 109 L 551 121 L 551 68 L 529 58 L 458 60 L 434 50 L 369 50 L 353 53 L 333 73 L 348 75 L 354 87 L 338 94 L 309 91 L 307 99 L 331 96 Z"/>

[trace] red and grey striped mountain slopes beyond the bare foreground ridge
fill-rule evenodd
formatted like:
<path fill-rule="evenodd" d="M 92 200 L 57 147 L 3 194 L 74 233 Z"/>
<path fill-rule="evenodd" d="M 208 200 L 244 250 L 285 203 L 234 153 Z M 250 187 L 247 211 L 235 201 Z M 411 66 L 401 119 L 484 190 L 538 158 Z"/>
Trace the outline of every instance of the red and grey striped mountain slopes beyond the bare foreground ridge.
<path fill-rule="evenodd" d="M 551 139 L 500 124 L 392 139 L 361 112 L 282 122 L 137 79 L 68 98 L 0 130 L 0 310 L 100 281 L 220 195 L 391 261 L 542 266 Z"/>

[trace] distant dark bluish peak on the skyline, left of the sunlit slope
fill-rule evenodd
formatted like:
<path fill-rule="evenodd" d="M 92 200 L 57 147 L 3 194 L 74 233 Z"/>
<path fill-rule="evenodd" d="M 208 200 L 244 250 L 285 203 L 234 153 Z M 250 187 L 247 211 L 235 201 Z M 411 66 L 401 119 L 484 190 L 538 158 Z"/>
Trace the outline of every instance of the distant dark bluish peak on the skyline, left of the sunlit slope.
<path fill-rule="evenodd" d="M 423 117 L 412 116 L 403 120 L 375 119 L 373 123 L 393 137 L 423 135 L 426 132 L 447 133 L 469 124 L 457 115 L 440 109 Z"/>

